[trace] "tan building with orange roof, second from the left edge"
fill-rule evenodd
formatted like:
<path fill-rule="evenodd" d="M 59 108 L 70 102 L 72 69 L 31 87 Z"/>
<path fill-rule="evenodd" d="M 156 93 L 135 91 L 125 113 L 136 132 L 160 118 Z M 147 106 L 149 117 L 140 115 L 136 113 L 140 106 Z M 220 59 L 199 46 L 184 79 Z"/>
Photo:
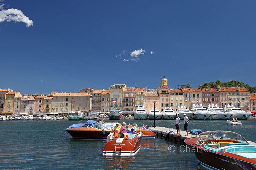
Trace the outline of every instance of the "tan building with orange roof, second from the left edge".
<path fill-rule="evenodd" d="M 4 107 L 4 114 L 12 114 L 14 113 L 14 99 L 15 97 L 22 97 L 22 95 L 20 94 L 20 92 L 9 92 L 6 93 L 5 95 L 5 107 Z M 16 99 L 17 100 L 17 99 Z M 20 100 L 20 99 L 19 99 Z M 16 106 L 16 103 L 15 103 Z"/>

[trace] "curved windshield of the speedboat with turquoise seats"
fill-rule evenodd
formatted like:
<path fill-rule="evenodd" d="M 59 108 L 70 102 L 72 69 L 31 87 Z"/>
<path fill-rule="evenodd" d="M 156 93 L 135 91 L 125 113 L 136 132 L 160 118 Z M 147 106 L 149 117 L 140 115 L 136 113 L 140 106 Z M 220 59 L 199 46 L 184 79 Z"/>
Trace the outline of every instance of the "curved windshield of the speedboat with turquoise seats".
<path fill-rule="evenodd" d="M 197 144 L 205 145 L 207 143 L 221 142 L 221 140 L 234 141 L 235 143 L 248 143 L 243 136 L 231 131 L 207 131 L 198 136 Z"/>

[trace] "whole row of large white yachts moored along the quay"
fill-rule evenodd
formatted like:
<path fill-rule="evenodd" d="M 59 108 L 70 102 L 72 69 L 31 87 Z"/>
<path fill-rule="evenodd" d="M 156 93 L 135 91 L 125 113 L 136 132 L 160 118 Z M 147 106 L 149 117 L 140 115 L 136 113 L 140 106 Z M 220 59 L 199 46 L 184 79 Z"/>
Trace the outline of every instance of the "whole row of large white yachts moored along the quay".
<path fill-rule="evenodd" d="M 147 116 L 149 120 L 175 120 L 176 115 L 179 115 L 180 119 L 184 119 L 184 114 L 189 119 L 194 120 L 229 120 L 229 119 L 238 119 L 238 120 L 247 120 L 251 117 L 250 112 L 243 111 L 240 108 L 236 108 L 233 105 L 228 105 L 224 108 L 218 107 L 218 105 L 212 104 L 208 105 L 208 108 L 202 107 L 200 105 L 192 105 L 192 111 L 184 107 L 178 107 L 177 111 L 173 111 L 171 108 L 166 107 L 163 112 L 160 112 L 157 108 L 151 108 L 149 113 L 145 111 L 144 107 L 138 107 L 134 113 L 135 120 L 146 120 Z"/>

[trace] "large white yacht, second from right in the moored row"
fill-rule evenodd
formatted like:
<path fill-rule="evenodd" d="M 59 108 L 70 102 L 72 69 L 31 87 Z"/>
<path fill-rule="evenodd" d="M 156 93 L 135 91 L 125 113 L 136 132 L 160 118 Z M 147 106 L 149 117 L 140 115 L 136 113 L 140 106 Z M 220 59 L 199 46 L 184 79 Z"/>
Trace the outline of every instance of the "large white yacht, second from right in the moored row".
<path fill-rule="evenodd" d="M 208 105 L 208 110 L 213 113 L 212 119 L 214 120 L 229 120 L 232 117 L 232 112 L 219 108 L 218 105 Z"/>

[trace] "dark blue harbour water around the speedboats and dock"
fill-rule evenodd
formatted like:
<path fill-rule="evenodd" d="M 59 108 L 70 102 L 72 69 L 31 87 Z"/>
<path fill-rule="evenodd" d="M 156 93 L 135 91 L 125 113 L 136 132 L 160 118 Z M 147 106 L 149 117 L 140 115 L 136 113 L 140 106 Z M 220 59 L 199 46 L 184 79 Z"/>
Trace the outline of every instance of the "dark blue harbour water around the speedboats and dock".
<path fill-rule="evenodd" d="M 123 121 L 139 126 L 154 124 L 151 120 L 119 122 Z M 193 153 L 169 152 L 169 145 L 180 145 L 159 138 L 143 139 L 135 156 L 102 156 L 106 141 L 75 140 L 65 131 L 68 126 L 82 122 L 85 121 L 0 121 L 0 169 L 204 169 Z M 156 121 L 156 126 L 166 128 L 175 128 L 174 124 L 175 121 Z M 256 120 L 242 121 L 242 124 L 192 120 L 188 128 L 230 130 L 255 142 Z"/>

